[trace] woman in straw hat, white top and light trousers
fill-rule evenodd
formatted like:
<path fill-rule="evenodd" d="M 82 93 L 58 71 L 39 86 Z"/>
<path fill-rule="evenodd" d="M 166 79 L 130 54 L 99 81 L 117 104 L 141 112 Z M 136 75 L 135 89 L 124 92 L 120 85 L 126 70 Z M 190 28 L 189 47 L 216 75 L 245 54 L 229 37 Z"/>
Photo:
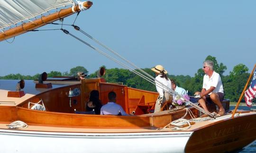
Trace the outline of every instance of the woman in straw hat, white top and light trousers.
<path fill-rule="evenodd" d="M 152 71 L 155 72 L 155 87 L 159 96 L 155 102 L 155 111 L 160 112 L 161 106 L 165 102 L 169 102 L 171 100 L 171 94 L 167 92 L 165 86 L 171 89 L 171 80 L 166 76 L 167 71 L 162 65 L 156 65 L 154 68 L 151 68 Z"/>

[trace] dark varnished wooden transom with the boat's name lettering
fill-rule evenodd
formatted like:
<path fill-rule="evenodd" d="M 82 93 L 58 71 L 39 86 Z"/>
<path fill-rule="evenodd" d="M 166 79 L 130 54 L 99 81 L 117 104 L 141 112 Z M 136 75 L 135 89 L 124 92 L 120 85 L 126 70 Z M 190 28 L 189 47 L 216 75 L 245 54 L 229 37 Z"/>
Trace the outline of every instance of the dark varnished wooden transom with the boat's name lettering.
<path fill-rule="evenodd" d="M 187 153 L 224 153 L 242 149 L 256 140 L 256 114 L 225 119 L 195 129 Z"/>

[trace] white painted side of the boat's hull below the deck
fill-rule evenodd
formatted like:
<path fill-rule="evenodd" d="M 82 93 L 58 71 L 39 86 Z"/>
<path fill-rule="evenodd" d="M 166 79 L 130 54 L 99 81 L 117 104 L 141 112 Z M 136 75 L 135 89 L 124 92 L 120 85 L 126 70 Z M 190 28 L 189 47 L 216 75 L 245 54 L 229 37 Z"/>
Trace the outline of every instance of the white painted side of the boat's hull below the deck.
<path fill-rule="evenodd" d="M 0 153 L 183 153 L 193 132 L 59 133 L 0 130 Z"/>

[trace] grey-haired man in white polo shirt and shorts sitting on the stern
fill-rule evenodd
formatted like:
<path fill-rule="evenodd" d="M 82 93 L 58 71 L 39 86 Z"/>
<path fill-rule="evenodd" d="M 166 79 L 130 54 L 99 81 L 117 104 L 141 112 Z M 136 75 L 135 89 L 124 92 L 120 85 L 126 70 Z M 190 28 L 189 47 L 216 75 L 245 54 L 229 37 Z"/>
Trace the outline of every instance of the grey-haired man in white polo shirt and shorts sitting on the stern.
<path fill-rule="evenodd" d="M 219 115 L 225 113 L 221 102 L 224 99 L 224 90 L 221 78 L 218 73 L 213 70 L 213 61 L 206 60 L 203 62 L 203 86 L 201 92 L 195 93 L 195 98 L 200 98 L 198 102 L 204 110 L 207 110 L 206 101 L 212 101 L 219 106 Z"/>

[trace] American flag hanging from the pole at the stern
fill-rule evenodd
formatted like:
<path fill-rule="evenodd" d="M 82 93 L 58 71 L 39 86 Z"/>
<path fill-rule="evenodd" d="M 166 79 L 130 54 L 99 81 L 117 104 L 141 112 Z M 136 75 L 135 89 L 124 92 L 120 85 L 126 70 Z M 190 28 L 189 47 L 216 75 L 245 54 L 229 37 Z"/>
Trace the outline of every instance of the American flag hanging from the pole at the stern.
<path fill-rule="evenodd" d="M 254 70 L 253 80 L 247 91 L 245 91 L 245 101 L 246 105 L 251 107 L 252 106 L 252 100 L 256 96 L 256 68 Z"/>

